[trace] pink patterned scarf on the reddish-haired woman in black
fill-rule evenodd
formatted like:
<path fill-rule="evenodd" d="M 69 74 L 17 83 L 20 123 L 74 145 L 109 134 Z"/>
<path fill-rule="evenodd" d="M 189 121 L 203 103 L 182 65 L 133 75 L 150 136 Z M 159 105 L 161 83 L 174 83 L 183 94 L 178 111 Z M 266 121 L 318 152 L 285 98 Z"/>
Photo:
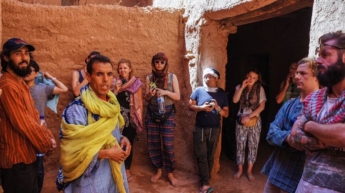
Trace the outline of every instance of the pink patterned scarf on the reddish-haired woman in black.
<path fill-rule="evenodd" d="M 116 83 L 120 78 L 114 78 L 112 81 Z M 128 91 L 130 93 L 130 115 L 132 121 L 136 124 L 138 132 L 142 131 L 142 109 L 139 101 L 138 90 L 141 87 L 140 79 L 132 77 L 127 83 L 121 85 L 119 92 Z"/>

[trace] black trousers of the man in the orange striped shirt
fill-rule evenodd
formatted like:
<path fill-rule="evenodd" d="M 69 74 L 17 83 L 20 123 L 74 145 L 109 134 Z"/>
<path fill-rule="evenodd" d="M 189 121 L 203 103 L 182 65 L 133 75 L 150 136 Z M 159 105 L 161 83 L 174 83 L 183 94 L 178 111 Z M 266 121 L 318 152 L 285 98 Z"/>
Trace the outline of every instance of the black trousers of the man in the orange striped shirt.
<path fill-rule="evenodd" d="M 4 193 L 37 193 L 39 162 L 19 163 L 12 168 L 1 168 Z"/>

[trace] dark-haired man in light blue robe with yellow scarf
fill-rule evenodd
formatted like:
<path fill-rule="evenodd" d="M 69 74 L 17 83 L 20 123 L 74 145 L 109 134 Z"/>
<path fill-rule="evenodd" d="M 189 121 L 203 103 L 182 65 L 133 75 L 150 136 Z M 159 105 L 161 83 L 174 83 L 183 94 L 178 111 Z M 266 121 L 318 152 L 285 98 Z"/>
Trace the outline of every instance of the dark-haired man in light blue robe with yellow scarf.
<path fill-rule="evenodd" d="M 123 161 L 131 152 L 131 143 L 119 133 L 124 120 L 109 91 L 113 79 L 110 59 L 104 55 L 91 58 L 86 78 L 89 84 L 62 115 L 57 188 L 64 193 L 129 193 Z"/>

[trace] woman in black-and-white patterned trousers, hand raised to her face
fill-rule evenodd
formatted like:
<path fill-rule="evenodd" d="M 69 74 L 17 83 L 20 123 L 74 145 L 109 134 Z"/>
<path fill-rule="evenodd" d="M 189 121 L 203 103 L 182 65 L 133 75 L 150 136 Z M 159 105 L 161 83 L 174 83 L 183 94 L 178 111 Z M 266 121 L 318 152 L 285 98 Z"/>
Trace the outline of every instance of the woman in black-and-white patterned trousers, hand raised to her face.
<path fill-rule="evenodd" d="M 236 162 L 239 166 L 237 173 L 233 175 L 234 179 L 239 179 L 243 173 L 244 150 L 248 138 L 248 168 L 247 177 L 249 182 L 254 182 L 255 177 L 252 174 L 252 168 L 256 161 L 256 153 L 261 133 L 260 112 L 265 109 L 266 95 L 261 86 L 261 73 L 254 68 L 250 69 L 246 79 L 235 88 L 233 102 L 240 101 L 240 110 L 237 113 L 236 122 Z M 250 125 L 249 122 L 252 124 Z"/>

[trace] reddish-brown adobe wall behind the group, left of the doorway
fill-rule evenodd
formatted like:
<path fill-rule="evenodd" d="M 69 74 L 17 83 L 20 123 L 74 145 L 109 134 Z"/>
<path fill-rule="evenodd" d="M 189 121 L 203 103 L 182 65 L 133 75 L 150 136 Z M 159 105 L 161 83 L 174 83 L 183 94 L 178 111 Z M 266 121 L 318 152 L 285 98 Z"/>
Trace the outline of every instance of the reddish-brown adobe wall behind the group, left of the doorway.
<path fill-rule="evenodd" d="M 83 67 L 84 59 L 91 51 L 99 51 L 115 63 L 121 58 L 130 59 L 143 83 L 151 73 L 152 55 L 157 52 L 167 54 L 169 71 L 176 74 L 181 92 L 175 115 L 177 168 L 194 171 L 195 159 L 189 153 L 192 152 L 194 115 L 186 106 L 191 86 L 188 66 L 183 59 L 183 12 L 117 5 L 33 5 L 16 0 L 2 0 L 1 6 L 2 44 L 11 37 L 33 44 L 36 48 L 33 54 L 41 69 L 49 71 L 69 87 L 69 91 L 60 96 L 58 113 L 46 111 L 48 126 L 57 139 L 62 111 L 72 100 L 71 72 Z M 143 84 L 143 90 L 146 85 Z M 146 106 L 145 102 L 145 109 Z M 135 154 L 140 154 L 140 164 L 149 163 L 145 131 L 142 136 L 134 148 Z M 186 148 L 188 146 L 190 149 Z M 53 157 L 46 158 L 50 162 L 48 168 L 49 165 L 58 168 L 58 154 L 59 150 Z"/>

